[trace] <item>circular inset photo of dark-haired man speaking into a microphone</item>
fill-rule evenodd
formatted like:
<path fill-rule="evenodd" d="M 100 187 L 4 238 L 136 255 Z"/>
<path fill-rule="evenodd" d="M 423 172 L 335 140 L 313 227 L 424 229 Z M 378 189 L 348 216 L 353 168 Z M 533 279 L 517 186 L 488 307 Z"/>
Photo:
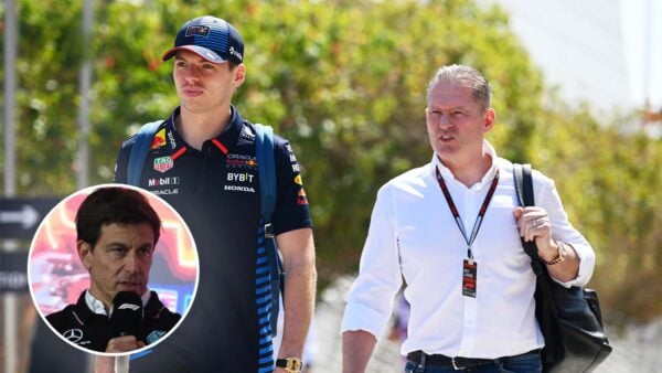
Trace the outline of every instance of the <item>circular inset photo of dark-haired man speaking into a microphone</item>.
<path fill-rule="evenodd" d="M 192 307 L 195 241 L 161 198 L 125 184 L 83 189 L 36 230 L 28 257 L 35 308 L 63 341 L 127 355 L 153 348 Z"/>

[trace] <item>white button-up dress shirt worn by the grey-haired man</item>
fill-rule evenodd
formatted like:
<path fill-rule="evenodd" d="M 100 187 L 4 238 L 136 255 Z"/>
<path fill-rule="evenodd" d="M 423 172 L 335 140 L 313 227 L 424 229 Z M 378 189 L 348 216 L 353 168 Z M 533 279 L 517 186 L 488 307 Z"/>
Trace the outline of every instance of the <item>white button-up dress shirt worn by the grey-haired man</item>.
<path fill-rule="evenodd" d="M 535 319 L 535 275 L 524 253 L 513 210 L 519 205 L 513 164 L 498 158 L 489 142 L 492 167 L 467 188 L 435 156 L 384 184 L 373 209 L 359 277 L 349 295 L 341 331 L 383 334 L 393 298 L 406 283 L 408 337 L 403 355 L 428 354 L 496 359 L 542 348 Z M 462 260 L 467 243 L 439 183 L 438 168 L 469 235 L 496 169 L 500 179 L 472 245 L 478 264 L 476 298 L 462 296 Z M 570 244 L 579 258 L 579 275 L 564 284 L 584 286 L 590 279 L 595 253 L 568 222 L 554 181 L 533 172 L 536 205 L 547 211 L 552 237 Z"/>

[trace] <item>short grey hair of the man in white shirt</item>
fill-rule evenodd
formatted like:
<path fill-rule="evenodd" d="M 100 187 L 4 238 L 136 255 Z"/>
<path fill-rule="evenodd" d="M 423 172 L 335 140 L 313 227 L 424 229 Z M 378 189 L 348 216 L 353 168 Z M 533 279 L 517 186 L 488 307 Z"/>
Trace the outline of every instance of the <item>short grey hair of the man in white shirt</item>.
<path fill-rule="evenodd" d="M 442 66 L 430 79 L 427 89 L 427 103 L 430 103 L 430 92 L 439 82 L 457 83 L 473 90 L 473 100 L 487 109 L 492 105 L 492 88 L 488 79 L 476 68 L 465 65 Z"/>

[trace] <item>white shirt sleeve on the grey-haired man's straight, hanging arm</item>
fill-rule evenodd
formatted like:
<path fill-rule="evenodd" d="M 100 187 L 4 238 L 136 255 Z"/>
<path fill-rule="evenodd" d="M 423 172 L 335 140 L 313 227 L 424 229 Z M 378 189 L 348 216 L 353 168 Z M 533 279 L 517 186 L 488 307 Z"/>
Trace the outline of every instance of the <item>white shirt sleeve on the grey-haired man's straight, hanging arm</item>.
<path fill-rule="evenodd" d="M 402 286 L 392 191 L 377 193 L 359 277 L 348 298 L 341 332 L 363 330 L 378 338 L 393 311 L 393 299 Z"/>

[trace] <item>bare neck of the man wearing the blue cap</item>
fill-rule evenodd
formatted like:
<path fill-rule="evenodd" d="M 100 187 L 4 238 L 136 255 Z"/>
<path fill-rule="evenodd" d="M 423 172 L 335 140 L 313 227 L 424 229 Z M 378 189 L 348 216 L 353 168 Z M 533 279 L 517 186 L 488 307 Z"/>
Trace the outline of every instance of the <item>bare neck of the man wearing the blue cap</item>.
<path fill-rule="evenodd" d="M 182 107 L 180 115 L 174 118 L 174 126 L 186 143 L 201 150 L 204 141 L 223 134 L 229 119 L 229 109 L 218 110 L 215 114 L 197 114 Z"/>

